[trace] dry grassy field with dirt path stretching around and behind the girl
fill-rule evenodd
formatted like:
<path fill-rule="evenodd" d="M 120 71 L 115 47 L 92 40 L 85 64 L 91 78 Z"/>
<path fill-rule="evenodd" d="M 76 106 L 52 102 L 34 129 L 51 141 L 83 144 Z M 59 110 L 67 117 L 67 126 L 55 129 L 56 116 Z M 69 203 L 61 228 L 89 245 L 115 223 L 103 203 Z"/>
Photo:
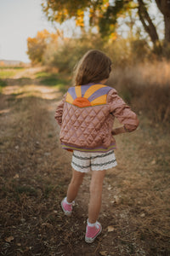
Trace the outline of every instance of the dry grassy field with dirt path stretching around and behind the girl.
<path fill-rule="evenodd" d="M 99 215 L 103 232 L 88 245 L 90 173 L 71 218 L 60 208 L 71 153 L 60 148 L 54 112 L 71 78 L 42 67 L 1 72 L 1 255 L 170 255 L 166 125 L 138 111 L 138 130 L 116 137 L 118 166 L 106 173 Z"/>

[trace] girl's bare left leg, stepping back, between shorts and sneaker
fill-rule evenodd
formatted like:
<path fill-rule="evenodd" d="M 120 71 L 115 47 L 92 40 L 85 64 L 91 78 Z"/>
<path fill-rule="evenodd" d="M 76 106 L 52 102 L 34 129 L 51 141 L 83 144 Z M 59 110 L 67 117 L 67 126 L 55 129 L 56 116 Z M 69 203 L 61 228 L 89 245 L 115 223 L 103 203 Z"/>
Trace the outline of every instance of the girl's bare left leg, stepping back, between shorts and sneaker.
<path fill-rule="evenodd" d="M 78 189 L 82 184 L 84 174 L 85 174 L 84 172 L 77 172 L 76 170 L 72 169 L 71 183 L 69 184 L 69 187 L 67 190 L 67 201 L 69 203 L 74 201 L 75 198 L 77 197 Z"/>

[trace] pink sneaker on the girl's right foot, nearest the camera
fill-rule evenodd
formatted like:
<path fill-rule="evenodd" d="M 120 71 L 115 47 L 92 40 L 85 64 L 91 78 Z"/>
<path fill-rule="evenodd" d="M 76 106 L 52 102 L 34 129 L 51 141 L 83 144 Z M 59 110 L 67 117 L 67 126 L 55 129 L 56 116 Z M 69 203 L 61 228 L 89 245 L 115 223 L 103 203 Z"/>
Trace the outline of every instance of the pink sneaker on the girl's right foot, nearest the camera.
<path fill-rule="evenodd" d="M 87 224 L 85 241 L 88 243 L 92 243 L 95 240 L 95 238 L 99 236 L 99 234 L 101 233 L 101 230 L 102 230 L 102 227 L 98 221 L 96 221 L 96 224 L 94 225 L 94 227 L 90 227 Z"/>

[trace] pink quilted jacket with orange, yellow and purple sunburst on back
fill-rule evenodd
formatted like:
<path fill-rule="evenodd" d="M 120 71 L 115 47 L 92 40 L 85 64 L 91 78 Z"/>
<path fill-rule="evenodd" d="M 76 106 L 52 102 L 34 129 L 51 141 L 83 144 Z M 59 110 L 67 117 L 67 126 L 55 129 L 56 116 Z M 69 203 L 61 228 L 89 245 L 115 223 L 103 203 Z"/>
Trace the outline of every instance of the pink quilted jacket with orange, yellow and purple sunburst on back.
<path fill-rule="evenodd" d="M 116 148 L 111 135 L 115 117 L 126 131 L 134 131 L 139 120 L 116 90 L 104 84 L 71 87 L 56 109 L 60 142 L 67 150 L 106 152 Z"/>

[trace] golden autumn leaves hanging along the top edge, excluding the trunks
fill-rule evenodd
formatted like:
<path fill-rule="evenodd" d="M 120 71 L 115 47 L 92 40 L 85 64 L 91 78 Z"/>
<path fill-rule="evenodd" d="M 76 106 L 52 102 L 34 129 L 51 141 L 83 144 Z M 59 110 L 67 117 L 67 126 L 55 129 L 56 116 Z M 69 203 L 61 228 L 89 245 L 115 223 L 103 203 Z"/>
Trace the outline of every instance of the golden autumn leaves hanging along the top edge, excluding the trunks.
<path fill-rule="evenodd" d="M 44 0 L 42 10 L 48 16 L 48 20 L 59 23 L 75 18 L 77 26 L 84 26 L 84 15 L 89 16 L 91 26 L 99 26 L 100 32 L 105 36 L 111 31 L 110 26 L 116 24 L 118 15 L 130 8 L 133 1 L 116 0 L 115 6 L 109 0 Z"/>

